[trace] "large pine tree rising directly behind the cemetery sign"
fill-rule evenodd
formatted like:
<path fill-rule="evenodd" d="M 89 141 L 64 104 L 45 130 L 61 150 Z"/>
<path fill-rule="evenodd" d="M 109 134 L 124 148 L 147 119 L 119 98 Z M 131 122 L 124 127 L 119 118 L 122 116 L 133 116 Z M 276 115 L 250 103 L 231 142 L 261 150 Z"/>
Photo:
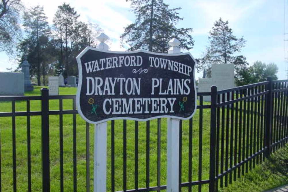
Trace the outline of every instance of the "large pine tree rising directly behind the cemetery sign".
<path fill-rule="evenodd" d="M 177 38 L 180 47 L 189 50 L 194 41 L 191 36 L 192 28 L 176 28 L 176 24 L 183 20 L 178 16 L 181 8 L 169 9 L 163 0 L 126 0 L 136 15 L 135 23 L 128 25 L 120 36 L 130 45 L 128 50 L 145 49 L 153 52 L 167 53 L 168 41 Z"/>

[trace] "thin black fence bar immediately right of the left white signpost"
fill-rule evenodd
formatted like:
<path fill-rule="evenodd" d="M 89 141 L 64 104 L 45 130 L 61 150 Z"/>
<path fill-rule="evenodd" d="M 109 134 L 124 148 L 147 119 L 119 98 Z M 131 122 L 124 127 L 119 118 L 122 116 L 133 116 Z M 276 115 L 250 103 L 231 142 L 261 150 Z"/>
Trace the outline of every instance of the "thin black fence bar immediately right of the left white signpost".
<path fill-rule="evenodd" d="M 111 192 L 114 191 L 115 191 L 115 120 L 111 120 Z"/>

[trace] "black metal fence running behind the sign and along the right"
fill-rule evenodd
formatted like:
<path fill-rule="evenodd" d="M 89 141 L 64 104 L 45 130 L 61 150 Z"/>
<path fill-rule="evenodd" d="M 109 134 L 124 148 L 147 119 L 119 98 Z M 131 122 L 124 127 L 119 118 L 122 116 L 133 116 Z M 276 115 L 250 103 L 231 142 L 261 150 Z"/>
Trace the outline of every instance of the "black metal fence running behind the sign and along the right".
<path fill-rule="evenodd" d="M 265 81 L 245 85 L 228 90 L 198 93 L 197 112 L 188 121 L 180 121 L 179 137 L 179 191 L 217 191 L 219 187 L 244 175 L 262 163 L 271 152 L 282 147 L 288 140 L 287 107 L 288 80 Z M 203 96 L 211 96 L 211 103 L 203 102 Z M 41 102 L 41 110 L 31 111 L 31 102 Z M 56 110 L 50 109 L 49 102 L 58 101 Z M 63 100 L 71 100 L 71 109 L 63 108 Z M 16 110 L 16 102 L 26 102 L 26 110 Z M 69 101 L 70 102 L 70 101 Z M 33 188 L 33 173 L 31 172 L 31 117 L 41 117 L 41 188 L 50 191 L 51 169 L 59 166 L 58 182 L 60 191 L 67 191 L 65 185 L 65 161 L 63 153 L 63 116 L 72 115 L 71 134 L 73 142 L 73 191 L 90 191 L 92 171 L 90 171 L 90 130 L 89 123 L 79 122 L 75 105 L 75 96 L 49 96 L 43 88 L 41 96 L 1 96 L 0 105 L 11 103 L 11 111 L 3 111 L 0 107 L 0 125 L 2 129 L 12 127 L 12 182 L 3 182 L 3 142 L 0 140 L 0 191 L 5 191 L 5 185 L 12 185 L 13 191 L 31 191 Z M 51 143 L 49 118 L 57 117 L 59 129 L 59 160 L 50 165 Z M 26 165 L 16 162 L 16 118 L 26 117 Z M 11 117 L 10 125 L 1 124 L 1 119 Z M 162 121 L 161 121 L 162 120 Z M 163 119 L 147 121 L 110 121 L 108 128 L 109 145 L 107 150 L 107 189 L 110 191 L 161 191 L 166 189 L 166 122 Z M 77 156 L 77 128 L 85 126 L 86 155 L 85 172 L 81 165 L 81 174 L 77 173 L 77 165 L 83 158 Z M 7 127 L 5 127 L 7 126 Z M 78 126 L 78 127 L 77 127 Z M 92 127 L 92 126 L 91 126 Z M 0 131 L 1 131 L 0 130 Z M 92 134 L 91 134 L 92 135 Z M 121 135 L 121 136 L 119 136 Z M 164 135 L 164 136 L 163 136 Z M 10 137 L 9 136 L 9 137 Z M 35 137 L 35 136 L 33 136 Z M 40 137 L 40 135 L 39 135 Z M 78 136 L 79 137 L 79 136 Z M 84 138 L 80 138 L 84 140 Z M 131 147 L 132 146 L 132 147 Z M 78 145 L 79 148 L 79 145 Z M 1 152 L 2 151 L 2 152 Z M 84 152 L 83 152 L 84 153 Z M 120 162 L 120 163 L 119 163 Z M 78 163 L 78 164 L 77 164 Z M 27 176 L 20 182 L 27 182 L 26 188 L 17 187 L 19 166 L 27 166 Z M 7 177 L 7 175 L 6 175 Z M 86 180 L 80 183 L 79 179 Z M 5 180 L 6 181 L 6 180 Z M 164 185 L 163 185 L 164 184 Z M 79 185 L 79 183 L 78 183 Z M 84 187 L 86 189 L 84 189 Z M 51 187 L 52 189 L 52 187 Z M 54 188 L 53 188 L 54 189 Z M 70 189 L 70 188 L 69 188 Z M 53 191 L 53 190 L 51 190 Z M 68 190 L 69 191 L 69 190 Z"/>

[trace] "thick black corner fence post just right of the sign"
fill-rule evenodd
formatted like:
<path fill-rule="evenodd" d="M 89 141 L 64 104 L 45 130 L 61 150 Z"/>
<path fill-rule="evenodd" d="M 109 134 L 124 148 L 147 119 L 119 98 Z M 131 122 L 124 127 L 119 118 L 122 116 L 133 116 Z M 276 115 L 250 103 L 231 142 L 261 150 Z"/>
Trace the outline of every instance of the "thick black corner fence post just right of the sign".
<path fill-rule="evenodd" d="M 215 145 L 216 145 L 216 103 L 217 86 L 211 86 L 211 110 L 210 110 L 210 171 L 209 191 L 215 191 Z"/>

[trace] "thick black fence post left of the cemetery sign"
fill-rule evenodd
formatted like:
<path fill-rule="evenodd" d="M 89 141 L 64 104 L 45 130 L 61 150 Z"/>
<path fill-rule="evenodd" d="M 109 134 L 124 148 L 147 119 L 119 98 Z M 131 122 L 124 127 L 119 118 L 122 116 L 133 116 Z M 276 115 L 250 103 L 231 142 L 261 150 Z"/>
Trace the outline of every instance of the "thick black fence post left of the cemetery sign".
<path fill-rule="evenodd" d="M 50 191 L 49 162 L 49 90 L 41 89 L 41 151 L 42 151 L 42 191 Z"/>

